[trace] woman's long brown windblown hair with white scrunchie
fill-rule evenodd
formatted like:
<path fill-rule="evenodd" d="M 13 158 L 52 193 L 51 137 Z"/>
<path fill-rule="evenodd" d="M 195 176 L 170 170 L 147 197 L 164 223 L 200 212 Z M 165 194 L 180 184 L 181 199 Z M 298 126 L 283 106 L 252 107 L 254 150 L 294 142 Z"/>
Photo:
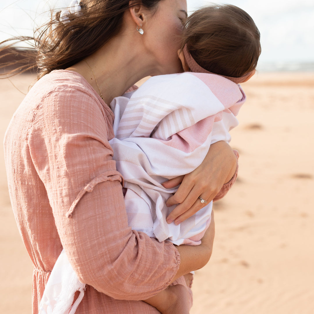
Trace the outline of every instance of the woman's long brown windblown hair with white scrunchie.
<path fill-rule="evenodd" d="M 81 0 L 79 14 L 69 14 L 69 22 L 60 21 L 60 12 L 35 31 L 34 37 L 16 37 L 0 43 L 0 69 L 2 74 L 14 75 L 37 67 L 38 79 L 52 70 L 65 69 L 97 51 L 122 29 L 124 12 L 142 4 L 154 13 L 160 0 Z M 8 42 L 11 42 L 8 44 Z M 17 55 L 16 43 L 33 42 L 32 49 L 22 50 L 15 61 L 1 59 Z M 4 45 L 4 46 L 3 46 Z M 13 69 L 12 69 L 13 67 Z M 7 70 L 10 68 L 9 70 Z"/>

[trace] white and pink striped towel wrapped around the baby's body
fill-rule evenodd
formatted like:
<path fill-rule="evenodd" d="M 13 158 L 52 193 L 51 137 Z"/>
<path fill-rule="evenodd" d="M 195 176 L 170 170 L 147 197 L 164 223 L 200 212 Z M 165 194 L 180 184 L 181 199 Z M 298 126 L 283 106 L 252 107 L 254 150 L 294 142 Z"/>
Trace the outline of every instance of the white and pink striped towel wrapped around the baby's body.
<path fill-rule="evenodd" d="M 197 245 L 210 222 L 212 202 L 176 226 L 166 222 L 175 206 L 165 201 L 177 187 L 161 183 L 193 171 L 209 146 L 230 141 L 229 131 L 246 100 L 240 85 L 215 74 L 155 76 L 134 92 L 111 102 L 110 141 L 117 170 L 127 188 L 128 223 L 159 241 Z"/>

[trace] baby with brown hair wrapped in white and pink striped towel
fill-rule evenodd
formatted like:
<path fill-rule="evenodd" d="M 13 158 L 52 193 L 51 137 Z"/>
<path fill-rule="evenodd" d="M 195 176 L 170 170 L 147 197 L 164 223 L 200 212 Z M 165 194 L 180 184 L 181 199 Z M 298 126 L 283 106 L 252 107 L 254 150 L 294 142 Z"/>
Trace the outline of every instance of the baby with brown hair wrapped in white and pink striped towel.
<path fill-rule="evenodd" d="M 162 183 L 198 167 L 212 143 L 230 141 L 229 131 L 238 124 L 235 116 L 246 100 L 238 83 L 255 73 L 259 39 L 252 18 L 236 6 L 199 9 L 187 19 L 178 51 L 185 72 L 152 77 L 112 101 L 116 138 L 110 144 L 127 188 L 125 203 L 133 230 L 175 245 L 200 244 L 210 224 L 212 202 L 181 224 L 167 221 L 174 206 L 165 203 L 176 189 L 165 189 Z M 200 201 L 207 203 L 201 196 Z M 58 261 L 61 258 L 68 263 L 64 251 Z M 65 267 L 58 261 L 40 308 L 49 298 L 49 281 L 62 278 Z M 68 285 L 64 280 L 62 284 Z M 79 282 L 72 290 L 80 290 L 79 299 L 83 297 Z M 144 301 L 163 314 L 188 314 L 188 293 L 177 284 Z"/>

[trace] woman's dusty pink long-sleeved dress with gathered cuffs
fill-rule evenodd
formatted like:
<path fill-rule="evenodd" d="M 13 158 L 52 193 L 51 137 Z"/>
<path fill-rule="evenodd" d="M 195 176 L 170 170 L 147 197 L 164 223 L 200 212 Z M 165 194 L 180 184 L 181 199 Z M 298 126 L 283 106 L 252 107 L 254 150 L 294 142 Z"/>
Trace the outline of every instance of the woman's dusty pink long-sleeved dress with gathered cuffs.
<path fill-rule="evenodd" d="M 140 300 L 168 286 L 179 268 L 171 242 L 128 227 L 123 178 L 108 143 L 112 123 L 112 111 L 82 76 L 56 70 L 32 87 L 9 124 L 8 186 L 34 263 L 33 314 L 62 248 L 88 284 L 77 314 L 159 313 Z"/>

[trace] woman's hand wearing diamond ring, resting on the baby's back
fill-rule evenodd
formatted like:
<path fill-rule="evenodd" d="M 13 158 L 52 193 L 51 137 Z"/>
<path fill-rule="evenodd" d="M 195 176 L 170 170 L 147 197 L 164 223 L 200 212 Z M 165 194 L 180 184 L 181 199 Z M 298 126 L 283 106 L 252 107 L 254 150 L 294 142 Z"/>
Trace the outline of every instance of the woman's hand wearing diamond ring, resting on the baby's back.
<path fill-rule="evenodd" d="M 206 203 L 201 203 L 198 197 L 207 203 L 212 201 L 235 171 L 236 156 L 231 147 L 223 141 L 210 145 L 203 163 L 194 171 L 163 183 L 165 188 L 181 183 L 178 191 L 166 202 L 167 206 L 179 204 L 167 217 L 168 224 L 174 221 L 178 225 L 203 208 Z"/>

